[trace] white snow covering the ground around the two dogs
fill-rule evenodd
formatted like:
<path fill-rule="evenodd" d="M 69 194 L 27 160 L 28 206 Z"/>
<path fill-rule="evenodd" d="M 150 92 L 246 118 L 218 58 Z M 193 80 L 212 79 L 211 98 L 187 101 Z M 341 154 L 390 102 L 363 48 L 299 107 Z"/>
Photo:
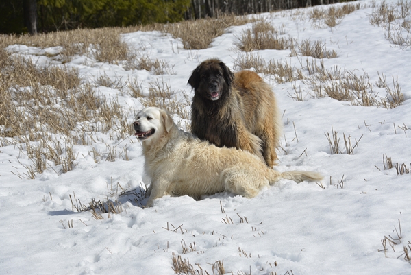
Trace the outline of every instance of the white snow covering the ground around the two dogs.
<path fill-rule="evenodd" d="M 276 169 L 320 171 L 323 182 L 282 180 L 253 199 L 231 193 L 200 201 L 164 197 L 153 208 L 142 208 L 135 195 L 119 196 L 119 185 L 138 193 L 140 186 L 149 184 L 142 176 L 144 158 L 134 136 L 112 141 L 127 148 L 129 161 L 95 163 L 88 156 L 89 147 L 76 145 L 73 171 L 58 175 L 47 169 L 34 180 L 16 176 L 25 172 L 17 158 L 25 159 L 16 146 L 5 145 L 0 147 L 0 274 L 174 274 L 173 253 L 188 259 L 199 274 L 201 269 L 213 274 L 216 261 L 229 274 L 411 274 L 404 259 L 404 247 L 411 256 L 411 174 L 399 176 L 395 168 L 383 168 L 385 154 L 394 164 L 411 166 L 411 48 L 390 43 L 382 27 L 369 23 L 372 2 L 360 3 L 360 10 L 332 28 L 318 28 L 308 16 L 293 15 L 296 10 L 262 14 L 299 42 L 325 42 L 327 50 L 338 55 L 323 60 L 326 69 L 338 66 L 359 77 L 366 75 L 382 97 L 385 89 L 375 84 L 378 73 L 386 75 L 392 89 L 392 77 L 398 77 L 405 101 L 387 109 L 314 98 L 307 83 L 278 84 L 262 75 L 284 112 L 284 150 L 279 150 Z M 234 45 L 251 25 L 230 27 L 211 47 L 198 51 L 187 51 L 180 40 L 160 32 L 124 34 L 130 47 L 169 62 L 173 74 L 125 71 L 82 56 L 66 65 L 78 68 L 84 80 L 101 75 L 136 79 L 145 93 L 149 83 L 158 80 L 176 91 L 180 100 L 183 92 L 192 96 L 187 80 L 199 62 L 217 57 L 233 68 L 242 54 Z M 55 49 L 43 50 L 8 47 L 9 52 L 39 63 L 51 62 L 45 52 Z M 257 53 L 308 74 L 303 69 L 306 56 L 290 57 L 290 50 L 253 54 Z M 295 93 L 292 86 L 301 88 L 303 101 L 290 97 Z M 142 108 L 140 101 L 115 88 L 101 86 L 99 92 L 118 96 L 125 108 Z M 127 122 L 132 121 L 130 115 Z M 331 136 L 332 129 L 343 154 L 331 154 L 325 133 Z M 343 134 L 351 136 L 353 145 L 361 138 L 354 154 L 346 154 Z M 101 139 L 105 137 L 101 134 Z M 83 204 L 118 198 L 123 211 L 110 217 L 102 214 L 103 219 L 95 219 L 89 211 L 73 212 L 74 195 Z"/>

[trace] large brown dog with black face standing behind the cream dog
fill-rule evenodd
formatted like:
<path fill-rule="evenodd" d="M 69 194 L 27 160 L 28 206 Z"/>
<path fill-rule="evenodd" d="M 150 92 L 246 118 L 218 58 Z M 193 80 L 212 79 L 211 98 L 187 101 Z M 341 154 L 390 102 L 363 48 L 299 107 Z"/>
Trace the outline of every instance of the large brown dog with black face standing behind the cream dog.
<path fill-rule="evenodd" d="M 188 84 L 191 132 L 218 147 L 247 150 L 275 165 L 282 120 L 269 84 L 253 71 L 232 73 L 219 59 L 208 59 L 192 71 Z"/>

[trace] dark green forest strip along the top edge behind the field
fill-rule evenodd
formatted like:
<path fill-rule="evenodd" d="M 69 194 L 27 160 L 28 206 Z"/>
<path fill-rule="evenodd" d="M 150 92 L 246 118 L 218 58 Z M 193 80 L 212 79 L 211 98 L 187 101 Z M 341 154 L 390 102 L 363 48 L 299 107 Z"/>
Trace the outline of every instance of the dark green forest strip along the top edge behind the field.
<path fill-rule="evenodd" d="M 78 28 L 174 23 L 221 14 L 254 14 L 345 0 L 8 0 L 0 33 L 36 34 Z"/>

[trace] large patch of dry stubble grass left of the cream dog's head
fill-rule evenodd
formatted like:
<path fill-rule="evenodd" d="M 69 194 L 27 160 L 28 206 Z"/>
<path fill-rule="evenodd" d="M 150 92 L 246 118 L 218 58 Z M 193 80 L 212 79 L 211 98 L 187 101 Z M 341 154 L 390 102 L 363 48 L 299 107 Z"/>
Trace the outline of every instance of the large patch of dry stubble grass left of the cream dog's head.
<path fill-rule="evenodd" d="M 40 67 L 27 58 L 1 52 L 0 145 L 16 145 L 27 172 L 20 178 L 36 178 L 45 169 L 61 174 L 75 168 L 74 145 L 95 146 L 95 132 L 122 141 L 133 132 L 127 123 L 131 110 L 123 110 L 116 98 L 99 95 L 101 85 L 119 86 L 106 75 L 96 83 L 82 83 L 79 73 L 64 65 Z M 130 84 L 132 85 L 132 84 Z M 108 146 L 106 152 L 92 147 L 89 153 L 100 160 L 128 160 L 127 150 Z"/>

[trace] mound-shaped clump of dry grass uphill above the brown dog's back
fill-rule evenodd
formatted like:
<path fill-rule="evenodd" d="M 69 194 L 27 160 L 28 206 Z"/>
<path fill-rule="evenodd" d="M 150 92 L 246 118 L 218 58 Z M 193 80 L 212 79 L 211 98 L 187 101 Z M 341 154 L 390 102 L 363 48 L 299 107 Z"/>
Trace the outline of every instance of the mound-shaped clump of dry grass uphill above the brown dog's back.
<path fill-rule="evenodd" d="M 260 20 L 253 23 L 251 29 L 242 32 L 236 46 L 241 51 L 294 49 L 295 40 L 290 37 L 284 38 L 271 23 Z"/>

